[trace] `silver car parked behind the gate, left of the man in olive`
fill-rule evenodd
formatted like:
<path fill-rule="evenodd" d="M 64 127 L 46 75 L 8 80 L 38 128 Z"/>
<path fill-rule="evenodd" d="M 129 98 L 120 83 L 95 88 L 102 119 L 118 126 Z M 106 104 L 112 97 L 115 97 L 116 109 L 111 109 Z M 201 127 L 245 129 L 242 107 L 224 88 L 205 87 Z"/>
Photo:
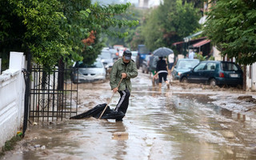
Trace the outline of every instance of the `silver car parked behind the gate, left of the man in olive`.
<path fill-rule="evenodd" d="M 76 62 L 71 78 L 74 83 L 104 81 L 106 70 L 101 59 L 98 58 L 92 65 Z"/>

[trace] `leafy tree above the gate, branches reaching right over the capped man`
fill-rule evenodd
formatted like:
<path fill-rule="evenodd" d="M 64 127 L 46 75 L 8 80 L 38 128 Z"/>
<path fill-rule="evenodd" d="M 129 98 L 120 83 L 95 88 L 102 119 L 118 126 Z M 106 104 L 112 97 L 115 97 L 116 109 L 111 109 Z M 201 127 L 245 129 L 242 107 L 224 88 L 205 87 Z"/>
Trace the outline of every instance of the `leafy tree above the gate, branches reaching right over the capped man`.
<path fill-rule="evenodd" d="M 0 52 L 8 54 L 12 46 L 25 53 L 31 50 L 34 61 L 46 68 L 51 68 L 61 58 L 81 60 L 82 39 L 88 38 L 91 30 L 98 34 L 125 36 L 127 33 L 113 33 L 108 28 L 138 24 L 114 18 L 115 14 L 126 13 L 129 6 L 130 3 L 91 5 L 88 0 L 1 0 Z"/>

